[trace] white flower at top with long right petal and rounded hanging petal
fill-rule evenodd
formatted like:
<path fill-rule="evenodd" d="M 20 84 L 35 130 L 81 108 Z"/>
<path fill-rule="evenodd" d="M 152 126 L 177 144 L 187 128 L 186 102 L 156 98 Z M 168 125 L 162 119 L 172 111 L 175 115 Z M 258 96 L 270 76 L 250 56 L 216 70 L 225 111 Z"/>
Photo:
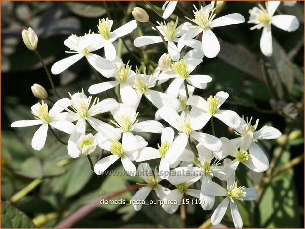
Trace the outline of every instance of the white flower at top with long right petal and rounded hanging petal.
<path fill-rule="evenodd" d="M 189 40 L 197 36 L 199 33 L 203 33 L 202 43 L 204 55 L 208 58 L 216 57 L 220 51 L 220 44 L 211 28 L 243 23 L 245 19 L 239 13 L 232 13 L 214 19 L 216 16 L 214 12 L 216 8 L 214 8 L 212 4 L 201 7 L 199 10 L 195 5 L 194 8 L 196 9 L 196 11 L 193 11 L 195 18 L 188 19 L 196 25 L 192 26 L 194 29 L 189 30 L 179 39 L 178 50 L 181 51 Z"/>

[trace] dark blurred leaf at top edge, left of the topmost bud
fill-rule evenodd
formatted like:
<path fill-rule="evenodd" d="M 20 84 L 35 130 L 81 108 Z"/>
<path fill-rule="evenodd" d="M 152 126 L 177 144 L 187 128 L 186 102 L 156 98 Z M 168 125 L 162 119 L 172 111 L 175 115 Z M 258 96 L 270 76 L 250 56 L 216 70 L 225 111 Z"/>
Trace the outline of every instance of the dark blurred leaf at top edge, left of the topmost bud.
<path fill-rule="evenodd" d="M 66 5 L 69 10 L 82 17 L 96 18 L 106 13 L 102 2 L 66 2 Z"/>

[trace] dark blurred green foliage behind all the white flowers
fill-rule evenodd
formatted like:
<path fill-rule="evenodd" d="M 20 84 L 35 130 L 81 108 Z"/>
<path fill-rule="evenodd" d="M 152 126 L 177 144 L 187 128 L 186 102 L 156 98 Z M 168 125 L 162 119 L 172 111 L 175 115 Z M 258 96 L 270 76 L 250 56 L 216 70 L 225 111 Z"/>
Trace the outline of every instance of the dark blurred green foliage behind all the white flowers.
<path fill-rule="evenodd" d="M 179 2 L 189 14 L 192 14 L 193 3 L 198 5 L 198 2 Z M 220 16 L 238 12 L 247 21 L 248 10 L 257 3 L 227 2 Z M 161 10 L 163 2 L 152 4 L 157 10 Z M 107 17 L 107 10 L 117 28 L 133 19 L 131 10 L 135 6 L 146 9 L 152 22 L 162 20 L 147 3 L 141 1 L 1 2 L 2 227 L 54 227 L 99 196 L 143 182 L 138 177 L 106 177 L 94 174 L 86 157 L 71 159 L 67 147 L 51 134 L 45 147 L 41 151 L 35 151 L 31 147 L 31 139 L 36 127 L 10 128 L 13 121 L 32 118 L 30 107 L 37 102 L 30 90 L 34 83 L 44 86 L 51 98 L 55 99 L 42 65 L 34 52 L 29 51 L 22 42 L 23 29 L 31 27 L 37 33 L 37 49 L 50 69 L 55 61 L 68 56 L 64 53 L 68 48 L 63 42 L 71 33 L 83 35 L 89 29 L 96 32 L 98 19 Z M 234 110 L 240 116 L 244 114 L 253 116 L 253 119 L 259 118 L 259 128 L 269 124 L 283 133 L 280 139 L 263 141 L 261 144 L 270 159 L 270 170 L 258 174 L 250 172 L 243 164 L 237 169 L 240 184 L 256 186 L 261 193 L 256 202 L 238 203 L 244 227 L 297 228 L 304 225 L 304 165 L 301 162 L 289 167 L 289 163 L 294 165 L 291 163 L 292 159 L 300 159 L 300 162 L 304 154 L 304 2 L 299 1 L 293 7 L 281 4 L 278 13 L 297 16 L 300 27 L 292 33 L 272 27 L 272 57 L 266 58 L 260 52 L 261 30 L 250 31 L 251 25 L 243 23 L 215 28 L 216 35 L 222 39 L 221 51 L 216 58 L 204 58 L 196 69 L 200 74 L 210 75 L 213 81 L 205 90 L 196 90 L 195 94 L 208 97 L 217 91 L 226 91 L 230 97 L 224 104 L 224 109 Z M 177 8 L 174 14 L 182 22 L 186 20 Z M 138 23 L 138 27 L 124 37 L 126 46 L 133 55 L 122 45 L 121 40 L 114 44 L 119 49 L 123 47 L 122 59 L 126 62 L 130 60 L 133 69 L 135 65 L 146 66 L 151 72 L 165 52 L 165 47 L 160 43 L 135 48 L 132 43 L 136 37 L 142 34 L 155 35 L 148 23 Z M 96 53 L 103 55 L 102 50 Z M 148 58 L 143 59 L 144 54 Z M 141 58 L 141 62 L 134 56 Z M 82 88 L 87 93 L 88 87 L 97 83 L 84 59 L 60 75 L 53 76 L 53 80 L 59 94 L 66 98 L 69 97 L 68 92 L 73 94 Z M 103 93 L 99 96 L 104 98 Z M 140 114 L 147 107 L 148 104 L 142 100 Z M 153 109 L 149 115 L 154 117 L 155 111 Z M 235 137 L 233 131 L 221 122 L 216 121 L 215 125 L 218 137 Z M 203 131 L 211 132 L 209 124 Z M 68 136 L 60 131 L 57 133 L 67 141 Z M 144 137 L 153 147 L 160 140 L 157 134 L 145 134 Z M 94 163 L 98 153 L 93 154 Z M 123 171 L 119 163 L 113 164 L 110 169 Z M 269 179 L 273 175 L 276 176 Z M 125 192 L 114 199 L 130 200 L 134 192 Z M 157 197 L 151 195 L 149 198 Z M 179 213 L 169 215 L 158 205 L 144 206 L 140 212 L 134 211 L 132 206 L 99 205 L 71 226 L 101 228 L 210 225 L 208 219 L 211 211 L 203 211 L 200 206 L 191 205 L 186 206 L 186 211 L 186 220 L 182 220 Z M 228 227 L 233 226 L 230 212 L 222 223 Z"/>

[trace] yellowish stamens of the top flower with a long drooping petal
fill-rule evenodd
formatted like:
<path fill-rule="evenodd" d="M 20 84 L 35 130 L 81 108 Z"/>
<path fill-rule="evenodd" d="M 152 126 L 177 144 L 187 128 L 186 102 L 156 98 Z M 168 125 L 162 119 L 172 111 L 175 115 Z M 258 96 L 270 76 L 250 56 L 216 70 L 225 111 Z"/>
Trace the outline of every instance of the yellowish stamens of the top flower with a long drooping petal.
<path fill-rule="evenodd" d="M 193 10 L 195 18 L 194 19 L 188 18 L 188 19 L 196 23 L 198 27 L 207 29 L 209 27 L 210 22 L 216 16 L 216 14 L 214 14 L 216 7 L 215 8 L 210 7 L 210 9 L 207 10 L 206 12 L 204 12 L 203 7 L 201 7 L 200 10 L 198 10 L 194 5 L 194 8 L 196 9 L 196 11 Z"/>

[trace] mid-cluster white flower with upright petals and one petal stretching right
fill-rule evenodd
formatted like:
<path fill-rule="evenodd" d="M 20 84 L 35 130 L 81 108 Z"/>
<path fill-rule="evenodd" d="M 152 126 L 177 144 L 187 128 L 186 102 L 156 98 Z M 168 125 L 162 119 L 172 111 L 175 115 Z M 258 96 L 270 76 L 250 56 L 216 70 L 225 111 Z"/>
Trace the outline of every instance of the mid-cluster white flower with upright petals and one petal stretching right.
<path fill-rule="evenodd" d="M 164 129 L 163 125 L 155 120 L 146 120 L 138 122 L 136 110 L 134 107 L 128 107 L 120 104 L 117 110 L 111 111 L 115 121 L 111 122 L 118 127 L 119 132 L 148 132 L 161 133 Z M 124 135 L 124 134 L 123 134 Z"/>

